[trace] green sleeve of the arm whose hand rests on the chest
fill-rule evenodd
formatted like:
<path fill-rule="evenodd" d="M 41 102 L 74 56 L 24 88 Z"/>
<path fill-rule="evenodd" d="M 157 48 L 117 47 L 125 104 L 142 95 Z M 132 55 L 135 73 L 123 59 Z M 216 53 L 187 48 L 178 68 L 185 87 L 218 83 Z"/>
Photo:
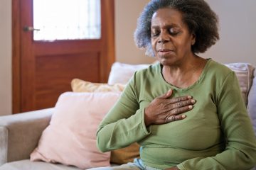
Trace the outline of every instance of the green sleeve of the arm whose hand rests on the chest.
<path fill-rule="evenodd" d="M 144 108 L 139 108 L 135 77 L 136 73 L 100 123 L 97 147 L 102 152 L 127 147 L 150 134 L 144 123 Z"/>

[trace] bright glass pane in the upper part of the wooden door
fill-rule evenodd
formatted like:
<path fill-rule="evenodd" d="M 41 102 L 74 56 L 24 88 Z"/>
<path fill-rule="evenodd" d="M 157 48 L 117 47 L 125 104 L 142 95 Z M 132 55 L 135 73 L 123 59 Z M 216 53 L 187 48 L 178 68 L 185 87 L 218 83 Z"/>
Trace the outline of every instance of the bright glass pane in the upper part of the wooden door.
<path fill-rule="evenodd" d="M 33 0 L 33 40 L 100 39 L 100 0 Z"/>

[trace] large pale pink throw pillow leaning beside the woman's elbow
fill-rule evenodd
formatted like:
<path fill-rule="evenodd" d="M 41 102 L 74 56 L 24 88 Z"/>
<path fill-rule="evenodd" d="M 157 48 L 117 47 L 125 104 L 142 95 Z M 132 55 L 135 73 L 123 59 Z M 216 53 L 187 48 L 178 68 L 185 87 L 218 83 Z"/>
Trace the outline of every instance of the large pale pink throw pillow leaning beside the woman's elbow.
<path fill-rule="evenodd" d="M 43 131 L 31 161 L 88 169 L 110 166 L 110 152 L 96 147 L 100 121 L 119 98 L 118 92 L 66 92 L 58 98 L 50 125 Z"/>

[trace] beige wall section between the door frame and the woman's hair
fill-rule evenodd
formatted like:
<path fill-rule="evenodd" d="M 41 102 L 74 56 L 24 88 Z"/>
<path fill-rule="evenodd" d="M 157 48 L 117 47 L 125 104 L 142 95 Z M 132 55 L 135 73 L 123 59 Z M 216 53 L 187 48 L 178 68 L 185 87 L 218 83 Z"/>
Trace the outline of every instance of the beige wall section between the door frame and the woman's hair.
<path fill-rule="evenodd" d="M 151 63 L 154 57 L 145 56 L 134 44 L 134 30 L 137 18 L 149 0 L 116 0 L 115 3 L 115 45 L 117 62 L 130 64 Z"/>

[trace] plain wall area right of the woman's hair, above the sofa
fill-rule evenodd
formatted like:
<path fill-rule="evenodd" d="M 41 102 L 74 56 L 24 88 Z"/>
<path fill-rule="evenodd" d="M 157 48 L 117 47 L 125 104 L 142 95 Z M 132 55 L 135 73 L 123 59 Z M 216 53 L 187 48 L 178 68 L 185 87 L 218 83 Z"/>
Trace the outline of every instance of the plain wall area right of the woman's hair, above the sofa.
<path fill-rule="evenodd" d="M 255 0 L 206 0 L 218 14 L 220 40 L 203 54 L 218 62 L 249 62 L 256 66 Z"/>

